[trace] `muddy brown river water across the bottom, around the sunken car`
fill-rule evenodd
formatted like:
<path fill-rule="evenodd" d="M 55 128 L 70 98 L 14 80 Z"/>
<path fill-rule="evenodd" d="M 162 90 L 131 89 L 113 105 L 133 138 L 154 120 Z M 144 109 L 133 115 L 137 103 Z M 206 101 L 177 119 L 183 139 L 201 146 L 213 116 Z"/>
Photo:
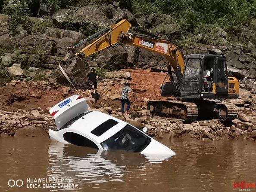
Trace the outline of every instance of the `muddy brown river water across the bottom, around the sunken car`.
<path fill-rule="evenodd" d="M 176 155 L 146 157 L 63 145 L 48 138 L 1 138 L 0 192 L 231 192 L 234 182 L 256 182 L 253 141 L 160 141 Z M 9 180 L 10 186 L 13 180 L 23 185 L 10 187 Z"/>

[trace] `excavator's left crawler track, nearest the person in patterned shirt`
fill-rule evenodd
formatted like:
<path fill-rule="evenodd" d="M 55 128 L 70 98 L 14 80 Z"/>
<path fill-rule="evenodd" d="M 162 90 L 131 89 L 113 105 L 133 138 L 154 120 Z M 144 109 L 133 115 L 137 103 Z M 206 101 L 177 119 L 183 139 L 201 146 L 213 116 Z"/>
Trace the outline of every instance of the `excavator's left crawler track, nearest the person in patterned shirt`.
<path fill-rule="evenodd" d="M 147 108 L 152 115 L 156 114 L 187 121 L 194 121 L 198 116 L 197 105 L 189 102 L 175 100 L 149 101 Z"/>

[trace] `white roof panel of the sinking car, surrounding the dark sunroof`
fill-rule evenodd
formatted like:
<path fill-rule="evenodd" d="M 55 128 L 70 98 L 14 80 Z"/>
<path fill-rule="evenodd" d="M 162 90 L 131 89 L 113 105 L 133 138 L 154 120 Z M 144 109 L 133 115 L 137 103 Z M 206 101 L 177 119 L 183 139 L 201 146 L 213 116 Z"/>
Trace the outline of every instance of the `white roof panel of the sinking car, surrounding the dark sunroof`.
<path fill-rule="evenodd" d="M 99 137 L 92 134 L 91 131 L 101 125 L 103 122 L 106 122 L 108 119 L 113 119 L 118 122 L 117 125 L 114 125 L 112 128 L 101 134 Z M 101 113 L 99 111 L 92 111 L 91 113 L 87 113 L 82 116 L 78 120 L 76 120 L 69 128 L 64 128 L 65 132 L 72 131 L 78 134 L 84 135 L 85 137 L 94 140 L 97 143 L 101 143 L 104 140 L 108 139 L 112 135 L 116 134 L 122 128 L 127 125 L 126 122 L 107 115 L 106 113 Z"/>

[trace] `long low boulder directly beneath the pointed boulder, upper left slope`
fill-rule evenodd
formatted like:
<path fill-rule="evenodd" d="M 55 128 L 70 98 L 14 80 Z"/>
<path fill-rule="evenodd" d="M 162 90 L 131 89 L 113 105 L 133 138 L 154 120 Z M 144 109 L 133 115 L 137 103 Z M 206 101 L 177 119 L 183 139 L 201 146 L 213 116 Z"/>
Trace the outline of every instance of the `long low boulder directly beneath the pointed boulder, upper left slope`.
<path fill-rule="evenodd" d="M 47 27 L 47 29 L 44 31 L 44 34 L 46 34 L 49 37 L 53 37 L 54 40 L 62 39 L 64 37 L 69 37 L 75 40 L 76 42 L 78 42 L 85 38 L 84 34 L 81 34 L 77 31 L 64 30 L 56 27 Z"/>

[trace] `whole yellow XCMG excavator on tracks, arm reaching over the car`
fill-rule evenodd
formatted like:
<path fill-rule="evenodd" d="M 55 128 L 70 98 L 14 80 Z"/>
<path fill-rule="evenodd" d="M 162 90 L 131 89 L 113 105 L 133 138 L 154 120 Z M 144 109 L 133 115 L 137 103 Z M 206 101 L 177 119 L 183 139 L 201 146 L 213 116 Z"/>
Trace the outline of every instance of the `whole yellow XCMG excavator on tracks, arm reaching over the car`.
<path fill-rule="evenodd" d="M 238 98 L 239 91 L 239 82 L 228 73 L 225 58 L 213 54 L 184 56 L 175 42 L 132 27 L 125 19 L 69 47 L 56 70 L 57 80 L 67 86 L 73 84 L 77 88 L 91 88 L 81 59 L 103 49 L 118 48 L 121 43 L 163 55 L 168 61 L 169 79 L 162 83 L 161 95 L 169 98 L 148 101 L 147 107 L 152 115 L 188 121 L 196 120 L 201 115 L 223 120 L 236 118 L 237 107 L 220 102 L 222 99 Z M 78 47 L 83 47 L 83 44 L 87 45 L 79 50 Z"/>

